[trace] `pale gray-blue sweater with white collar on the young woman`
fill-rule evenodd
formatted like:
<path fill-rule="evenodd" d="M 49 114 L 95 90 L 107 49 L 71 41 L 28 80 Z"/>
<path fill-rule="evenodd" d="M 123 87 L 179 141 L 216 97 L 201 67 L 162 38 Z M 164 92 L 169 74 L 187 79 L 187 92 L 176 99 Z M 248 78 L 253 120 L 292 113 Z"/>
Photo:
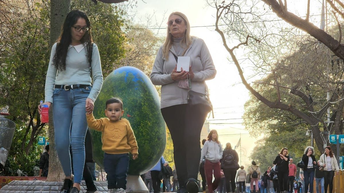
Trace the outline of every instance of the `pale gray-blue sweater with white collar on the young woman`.
<path fill-rule="evenodd" d="M 56 44 L 51 48 L 50 61 L 45 80 L 45 100 L 44 102 L 53 103 L 53 92 L 55 84 L 92 84 L 90 65 L 86 57 L 86 47 L 82 45 L 69 46 L 66 57 L 66 69 L 60 71 L 53 65 L 53 58 L 56 52 Z M 80 48 L 82 50 L 78 50 Z M 103 73 L 101 72 L 99 50 L 96 44 L 93 44 L 92 50 L 92 78 L 93 86 L 88 98 L 95 101 L 103 84 Z"/>

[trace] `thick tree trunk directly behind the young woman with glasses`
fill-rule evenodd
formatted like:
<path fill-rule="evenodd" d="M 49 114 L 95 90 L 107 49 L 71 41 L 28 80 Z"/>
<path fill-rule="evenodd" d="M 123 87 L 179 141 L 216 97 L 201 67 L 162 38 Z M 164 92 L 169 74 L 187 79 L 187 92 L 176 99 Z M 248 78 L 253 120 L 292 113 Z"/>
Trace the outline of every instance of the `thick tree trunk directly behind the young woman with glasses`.
<path fill-rule="evenodd" d="M 58 36 L 60 36 L 61 26 L 71 9 L 71 0 L 51 0 L 50 1 L 50 47 L 53 46 Z M 57 157 L 54 139 L 53 105 L 49 109 L 49 173 L 46 181 L 62 181 L 65 175 L 61 162 Z"/>

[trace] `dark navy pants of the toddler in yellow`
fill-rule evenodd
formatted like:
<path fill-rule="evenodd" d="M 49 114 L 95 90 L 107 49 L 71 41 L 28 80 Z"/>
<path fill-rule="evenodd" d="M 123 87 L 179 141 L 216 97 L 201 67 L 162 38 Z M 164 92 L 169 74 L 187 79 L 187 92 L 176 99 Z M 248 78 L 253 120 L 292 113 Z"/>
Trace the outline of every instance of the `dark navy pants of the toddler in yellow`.
<path fill-rule="evenodd" d="M 104 153 L 104 170 L 108 189 L 126 189 L 129 168 L 129 154 Z"/>

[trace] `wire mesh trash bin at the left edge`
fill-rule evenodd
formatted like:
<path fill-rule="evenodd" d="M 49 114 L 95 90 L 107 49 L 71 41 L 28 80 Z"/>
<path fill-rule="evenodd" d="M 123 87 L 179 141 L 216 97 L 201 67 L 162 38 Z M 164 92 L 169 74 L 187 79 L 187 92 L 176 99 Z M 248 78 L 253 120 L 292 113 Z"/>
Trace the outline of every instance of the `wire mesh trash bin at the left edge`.
<path fill-rule="evenodd" d="M 10 151 L 15 131 L 15 123 L 7 118 L 0 117 L 0 167 L 4 167 Z"/>

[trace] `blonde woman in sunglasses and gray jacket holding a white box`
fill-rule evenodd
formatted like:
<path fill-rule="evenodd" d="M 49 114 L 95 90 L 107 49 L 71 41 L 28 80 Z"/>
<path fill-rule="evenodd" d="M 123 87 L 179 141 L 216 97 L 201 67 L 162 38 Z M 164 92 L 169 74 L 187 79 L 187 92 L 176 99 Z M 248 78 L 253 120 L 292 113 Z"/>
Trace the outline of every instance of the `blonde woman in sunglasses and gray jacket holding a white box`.
<path fill-rule="evenodd" d="M 183 13 L 171 13 L 167 25 L 166 40 L 158 50 L 150 79 L 153 84 L 161 85 L 160 108 L 173 142 L 177 192 L 196 193 L 200 136 L 210 109 L 207 104 L 188 103 L 189 91 L 205 94 L 205 81 L 213 79 L 216 70 L 204 41 L 190 36 L 190 23 Z M 189 69 L 177 71 L 179 56 L 190 58 Z"/>

